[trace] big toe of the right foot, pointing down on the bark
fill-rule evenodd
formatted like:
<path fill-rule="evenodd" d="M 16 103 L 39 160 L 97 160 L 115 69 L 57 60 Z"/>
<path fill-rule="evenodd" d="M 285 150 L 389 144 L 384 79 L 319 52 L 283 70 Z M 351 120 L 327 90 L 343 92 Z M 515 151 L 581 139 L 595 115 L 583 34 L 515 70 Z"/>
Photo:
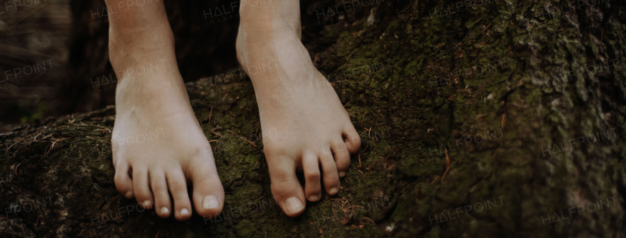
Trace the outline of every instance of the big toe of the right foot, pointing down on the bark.
<path fill-rule="evenodd" d="M 297 217 L 305 207 L 304 191 L 295 176 L 294 159 L 285 156 L 267 158 L 272 181 L 272 194 L 287 216 Z"/>

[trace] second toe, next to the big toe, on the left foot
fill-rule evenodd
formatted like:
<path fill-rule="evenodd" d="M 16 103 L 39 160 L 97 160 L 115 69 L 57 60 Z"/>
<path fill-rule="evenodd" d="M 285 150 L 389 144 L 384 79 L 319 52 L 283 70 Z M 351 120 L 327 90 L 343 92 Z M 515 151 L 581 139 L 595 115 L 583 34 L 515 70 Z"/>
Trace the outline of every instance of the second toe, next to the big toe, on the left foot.
<path fill-rule="evenodd" d="M 170 194 L 174 199 L 174 217 L 179 221 L 184 221 L 192 216 L 192 204 L 187 193 L 187 182 L 180 167 L 175 167 L 165 172 L 167 185 L 170 187 Z"/>

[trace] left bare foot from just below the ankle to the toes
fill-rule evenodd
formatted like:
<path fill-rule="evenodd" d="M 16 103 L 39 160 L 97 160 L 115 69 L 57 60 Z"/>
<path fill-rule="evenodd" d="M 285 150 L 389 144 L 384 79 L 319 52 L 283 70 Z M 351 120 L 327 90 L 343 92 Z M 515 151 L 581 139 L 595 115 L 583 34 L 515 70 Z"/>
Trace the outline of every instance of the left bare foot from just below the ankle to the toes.
<path fill-rule="evenodd" d="M 222 182 L 180 74 L 166 69 L 119 82 L 111 136 L 118 191 L 145 208 L 154 204 L 160 217 L 173 212 L 176 219 L 186 220 L 192 216 L 190 181 L 198 214 L 219 214 Z"/>

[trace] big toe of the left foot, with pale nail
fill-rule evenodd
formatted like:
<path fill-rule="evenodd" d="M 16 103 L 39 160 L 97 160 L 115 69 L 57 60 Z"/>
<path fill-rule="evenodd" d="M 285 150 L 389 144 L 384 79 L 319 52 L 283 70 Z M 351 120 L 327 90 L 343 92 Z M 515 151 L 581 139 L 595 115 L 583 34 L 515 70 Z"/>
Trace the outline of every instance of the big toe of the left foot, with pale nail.
<path fill-rule="evenodd" d="M 217 175 L 213 157 L 192 164 L 189 168 L 193 183 L 193 206 L 200 216 L 212 218 L 222 212 L 224 189 Z"/>

